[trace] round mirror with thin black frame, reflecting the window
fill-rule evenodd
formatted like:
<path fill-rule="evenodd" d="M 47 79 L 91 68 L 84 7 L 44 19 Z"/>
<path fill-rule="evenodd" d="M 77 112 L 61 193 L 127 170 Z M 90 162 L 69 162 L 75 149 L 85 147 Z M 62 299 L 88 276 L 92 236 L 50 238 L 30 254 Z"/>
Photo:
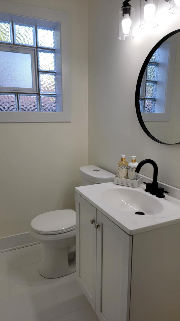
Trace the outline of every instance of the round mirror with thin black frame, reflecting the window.
<path fill-rule="evenodd" d="M 158 143 L 180 143 L 180 29 L 162 38 L 144 61 L 136 85 L 136 113 Z"/>

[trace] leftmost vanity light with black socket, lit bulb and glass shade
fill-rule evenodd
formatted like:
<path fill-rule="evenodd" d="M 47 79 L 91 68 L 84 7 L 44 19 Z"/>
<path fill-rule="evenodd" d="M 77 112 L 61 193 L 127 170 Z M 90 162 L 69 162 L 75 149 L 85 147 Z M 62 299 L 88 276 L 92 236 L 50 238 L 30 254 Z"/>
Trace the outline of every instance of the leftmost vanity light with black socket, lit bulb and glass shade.
<path fill-rule="evenodd" d="M 122 3 L 121 10 L 119 11 L 119 39 L 130 40 L 134 38 L 134 9 L 131 0 L 125 0 Z"/>

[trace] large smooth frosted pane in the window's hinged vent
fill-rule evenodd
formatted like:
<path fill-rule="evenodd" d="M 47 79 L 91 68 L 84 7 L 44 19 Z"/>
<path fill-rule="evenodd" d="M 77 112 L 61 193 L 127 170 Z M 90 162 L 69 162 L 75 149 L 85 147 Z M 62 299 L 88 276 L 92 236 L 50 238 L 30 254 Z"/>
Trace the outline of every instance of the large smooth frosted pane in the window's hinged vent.
<path fill-rule="evenodd" d="M 0 51 L 0 87 L 32 88 L 31 55 Z"/>

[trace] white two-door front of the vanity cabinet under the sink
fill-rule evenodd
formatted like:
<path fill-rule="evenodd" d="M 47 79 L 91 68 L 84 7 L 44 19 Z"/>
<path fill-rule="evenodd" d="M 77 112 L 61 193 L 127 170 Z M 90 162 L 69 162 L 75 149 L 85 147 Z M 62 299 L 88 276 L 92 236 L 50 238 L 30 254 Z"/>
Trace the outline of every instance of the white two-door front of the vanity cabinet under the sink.
<path fill-rule="evenodd" d="M 76 193 L 76 275 L 100 321 L 128 321 L 132 236 Z"/>

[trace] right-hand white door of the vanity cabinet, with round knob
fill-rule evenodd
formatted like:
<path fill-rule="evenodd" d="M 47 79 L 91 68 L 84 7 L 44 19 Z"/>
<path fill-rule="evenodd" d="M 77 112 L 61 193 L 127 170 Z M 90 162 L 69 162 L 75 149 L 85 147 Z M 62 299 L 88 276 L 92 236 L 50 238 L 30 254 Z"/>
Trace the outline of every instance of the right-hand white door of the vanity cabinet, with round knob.
<path fill-rule="evenodd" d="M 132 236 L 97 211 L 96 314 L 129 320 Z"/>

